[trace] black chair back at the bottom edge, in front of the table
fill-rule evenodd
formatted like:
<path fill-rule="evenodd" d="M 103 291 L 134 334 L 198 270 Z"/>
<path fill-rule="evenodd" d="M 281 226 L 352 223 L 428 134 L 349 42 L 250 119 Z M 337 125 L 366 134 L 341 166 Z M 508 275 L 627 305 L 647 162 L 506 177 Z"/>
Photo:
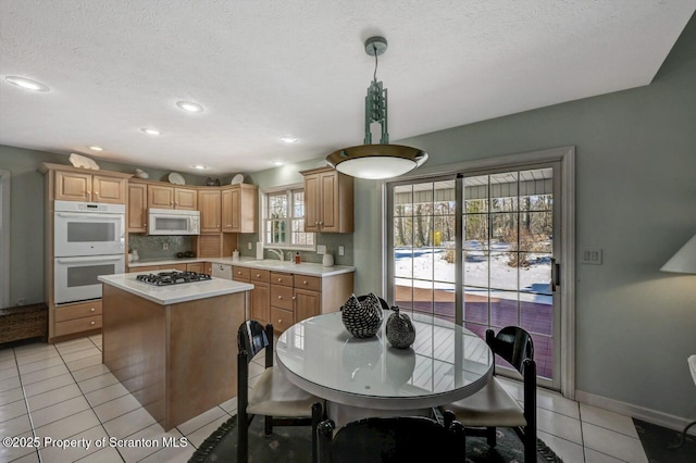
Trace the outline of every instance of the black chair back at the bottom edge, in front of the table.
<path fill-rule="evenodd" d="M 445 412 L 444 424 L 424 416 L 370 417 L 335 430 L 319 425 L 319 463 L 464 461 L 464 428 Z"/>

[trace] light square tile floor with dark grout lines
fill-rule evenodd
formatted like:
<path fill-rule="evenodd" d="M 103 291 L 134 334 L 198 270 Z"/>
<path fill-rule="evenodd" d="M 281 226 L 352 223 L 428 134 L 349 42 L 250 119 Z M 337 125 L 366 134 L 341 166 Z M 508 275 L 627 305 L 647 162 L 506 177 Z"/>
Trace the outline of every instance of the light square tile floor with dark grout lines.
<path fill-rule="evenodd" d="M 258 377 L 262 360 L 254 362 L 250 376 Z M 505 386 L 522 398 L 520 384 L 505 381 Z M 629 416 L 544 389 L 537 397 L 538 436 L 567 463 L 647 463 Z M 101 336 L 0 349 L 0 437 L 50 437 L 75 443 L 38 451 L 0 445 L 0 462 L 185 462 L 236 411 L 237 401 L 232 399 L 164 433 L 101 364 Z M 110 447 L 111 438 L 159 447 Z M 165 447 L 163 439 L 188 445 Z M 84 441 L 92 445 L 86 448 Z M 107 445 L 97 448 L 97 441 Z"/>

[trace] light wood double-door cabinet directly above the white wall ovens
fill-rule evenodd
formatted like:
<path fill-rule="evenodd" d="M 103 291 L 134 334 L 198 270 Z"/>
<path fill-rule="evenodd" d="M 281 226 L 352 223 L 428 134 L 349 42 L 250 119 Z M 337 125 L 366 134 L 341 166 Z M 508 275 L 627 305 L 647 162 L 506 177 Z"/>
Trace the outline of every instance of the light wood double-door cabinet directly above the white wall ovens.
<path fill-rule="evenodd" d="M 54 199 L 63 201 L 125 203 L 126 178 L 74 171 L 55 171 Z"/>

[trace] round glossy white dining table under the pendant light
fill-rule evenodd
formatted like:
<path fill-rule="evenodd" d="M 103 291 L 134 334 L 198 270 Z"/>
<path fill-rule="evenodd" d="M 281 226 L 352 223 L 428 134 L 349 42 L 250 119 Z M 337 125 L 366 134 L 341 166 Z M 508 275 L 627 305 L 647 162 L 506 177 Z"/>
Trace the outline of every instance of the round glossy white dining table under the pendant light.
<path fill-rule="evenodd" d="M 415 342 L 396 349 L 385 335 L 390 313 L 384 312 L 385 323 L 366 339 L 348 333 L 340 312 L 296 323 L 276 343 L 278 367 L 293 384 L 314 396 L 387 414 L 446 405 L 488 383 L 494 355 L 475 334 L 413 313 Z"/>

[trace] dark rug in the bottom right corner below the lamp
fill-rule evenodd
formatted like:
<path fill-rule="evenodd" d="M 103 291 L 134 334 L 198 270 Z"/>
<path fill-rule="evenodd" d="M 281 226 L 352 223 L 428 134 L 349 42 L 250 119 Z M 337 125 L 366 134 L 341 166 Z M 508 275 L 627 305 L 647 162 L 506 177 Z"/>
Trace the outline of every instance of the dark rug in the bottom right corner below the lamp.
<path fill-rule="evenodd" d="M 635 418 L 633 418 L 633 423 L 650 463 L 696 462 L 696 437 L 686 435 L 684 445 L 681 448 L 670 449 L 670 446 L 679 443 L 681 431 Z"/>

